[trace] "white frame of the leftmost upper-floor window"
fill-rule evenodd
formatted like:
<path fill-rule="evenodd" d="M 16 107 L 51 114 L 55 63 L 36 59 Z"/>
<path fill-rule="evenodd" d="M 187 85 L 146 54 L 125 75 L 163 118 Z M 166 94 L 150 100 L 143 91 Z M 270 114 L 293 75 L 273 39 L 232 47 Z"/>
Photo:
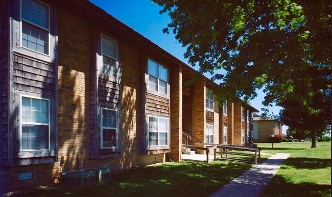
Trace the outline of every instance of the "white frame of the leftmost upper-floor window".
<path fill-rule="evenodd" d="M 45 5 L 46 7 L 48 7 L 48 10 L 49 10 L 49 21 L 48 21 L 48 26 L 49 26 L 49 29 L 47 28 L 44 28 L 44 27 L 41 27 L 39 26 L 38 24 L 32 22 L 32 21 L 29 21 L 29 20 L 26 20 L 24 18 L 22 18 L 22 1 L 23 0 L 20 0 L 19 1 L 19 46 L 22 47 L 22 48 L 26 48 L 27 50 L 30 50 L 30 51 L 33 51 L 35 53 L 38 53 L 38 54 L 42 54 L 42 55 L 45 55 L 45 56 L 49 56 L 50 57 L 50 54 L 51 54 L 51 44 L 50 44 L 50 40 L 51 40 L 51 34 L 50 34 L 50 29 L 51 29 L 51 8 L 50 8 L 50 5 L 48 4 L 45 4 L 39 0 L 33 0 L 33 1 L 36 1 L 36 2 L 39 2 L 43 5 Z M 45 53 L 41 53 L 41 52 L 38 52 L 38 51 L 35 51 L 33 50 L 32 48 L 28 48 L 28 47 L 25 47 L 22 45 L 22 22 L 27 22 L 29 24 L 31 24 L 32 26 L 35 26 L 39 29 L 42 29 L 44 31 L 47 31 L 48 32 L 48 54 L 45 54 Z"/>

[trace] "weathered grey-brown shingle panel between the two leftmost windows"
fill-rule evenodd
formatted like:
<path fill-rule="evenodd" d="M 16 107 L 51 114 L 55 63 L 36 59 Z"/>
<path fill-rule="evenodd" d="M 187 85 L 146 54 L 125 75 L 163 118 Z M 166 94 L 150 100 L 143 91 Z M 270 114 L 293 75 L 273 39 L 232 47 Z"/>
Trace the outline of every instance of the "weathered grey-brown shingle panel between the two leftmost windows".
<path fill-rule="evenodd" d="M 36 94 L 55 95 L 55 66 L 14 53 L 13 89 Z"/>

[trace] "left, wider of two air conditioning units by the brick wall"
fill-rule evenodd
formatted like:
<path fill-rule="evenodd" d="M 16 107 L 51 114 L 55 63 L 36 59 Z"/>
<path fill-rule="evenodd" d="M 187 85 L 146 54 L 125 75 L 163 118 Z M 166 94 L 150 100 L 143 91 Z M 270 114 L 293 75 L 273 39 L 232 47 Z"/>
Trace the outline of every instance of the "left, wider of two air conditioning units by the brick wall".
<path fill-rule="evenodd" d="M 85 187 L 96 183 L 96 173 L 94 171 L 63 171 L 61 173 L 60 184 L 71 187 Z"/>

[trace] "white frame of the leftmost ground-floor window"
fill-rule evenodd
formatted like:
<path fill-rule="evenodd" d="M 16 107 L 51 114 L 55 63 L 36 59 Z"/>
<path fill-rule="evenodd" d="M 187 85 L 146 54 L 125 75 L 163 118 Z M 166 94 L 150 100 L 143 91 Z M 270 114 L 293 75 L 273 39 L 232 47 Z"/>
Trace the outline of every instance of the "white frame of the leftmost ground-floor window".
<path fill-rule="evenodd" d="M 38 100 L 44 100 L 48 102 L 48 123 L 40 123 L 40 122 L 25 122 L 22 121 L 22 97 L 26 97 L 29 99 L 38 99 Z M 29 95 L 19 95 L 19 151 L 20 152 L 26 152 L 26 151 L 49 151 L 51 146 L 51 100 L 45 99 L 43 97 L 37 97 L 37 96 L 29 96 Z M 48 149 L 22 149 L 22 125 L 40 125 L 40 126 L 48 126 L 49 127 L 49 140 L 48 140 Z"/>

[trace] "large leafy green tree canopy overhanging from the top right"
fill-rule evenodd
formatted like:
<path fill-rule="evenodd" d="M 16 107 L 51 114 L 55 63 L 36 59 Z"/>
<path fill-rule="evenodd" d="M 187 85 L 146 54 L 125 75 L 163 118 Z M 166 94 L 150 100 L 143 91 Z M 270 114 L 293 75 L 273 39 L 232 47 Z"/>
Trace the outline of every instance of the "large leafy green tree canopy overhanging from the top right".
<path fill-rule="evenodd" d="M 221 100 L 253 99 L 262 88 L 265 106 L 287 112 L 281 119 L 299 118 L 289 103 L 314 123 L 330 117 L 330 1 L 152 1 L 171 17 L 163 31 L 187 46 L 188 62 L 221 81 Z"/>

